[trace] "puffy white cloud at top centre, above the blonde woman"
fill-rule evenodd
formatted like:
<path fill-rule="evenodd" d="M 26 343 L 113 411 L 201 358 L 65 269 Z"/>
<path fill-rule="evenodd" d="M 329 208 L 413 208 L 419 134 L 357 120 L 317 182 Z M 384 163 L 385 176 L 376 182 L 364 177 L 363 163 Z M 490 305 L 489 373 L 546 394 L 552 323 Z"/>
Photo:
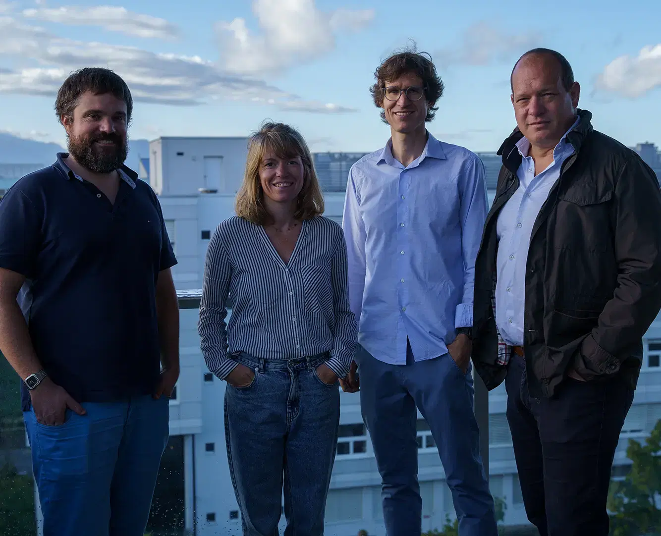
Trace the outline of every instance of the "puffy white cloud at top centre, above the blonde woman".
<path fill-rule="evenodd" d="M 357 31 L 374 17 L 373 10 L 319 11 L 314 0 L 254 0 L 253 13 L 262 30 L 249 31 L 245 19 L 218 22 L 225 68 L 237 73 L 267 73 L 309 61 L 335 46 L 336 33 Z"/>

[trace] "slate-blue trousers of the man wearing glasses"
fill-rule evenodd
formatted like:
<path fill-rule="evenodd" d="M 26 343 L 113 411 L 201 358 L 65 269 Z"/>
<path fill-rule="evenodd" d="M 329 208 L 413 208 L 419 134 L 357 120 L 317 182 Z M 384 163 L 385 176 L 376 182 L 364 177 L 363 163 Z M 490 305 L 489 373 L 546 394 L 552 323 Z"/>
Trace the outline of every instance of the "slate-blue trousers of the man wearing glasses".
<path fill-rule="evenodd" d="M 416 406 L 429 424 L 446 472 L 461 536 L 496 536 L 494 502 L 479 453 L 471 367 L 449 354 L 389 365 L 361 346 L 356 352 L 360 406 L 374 448 L 387 536 L 422 532 Z"/>

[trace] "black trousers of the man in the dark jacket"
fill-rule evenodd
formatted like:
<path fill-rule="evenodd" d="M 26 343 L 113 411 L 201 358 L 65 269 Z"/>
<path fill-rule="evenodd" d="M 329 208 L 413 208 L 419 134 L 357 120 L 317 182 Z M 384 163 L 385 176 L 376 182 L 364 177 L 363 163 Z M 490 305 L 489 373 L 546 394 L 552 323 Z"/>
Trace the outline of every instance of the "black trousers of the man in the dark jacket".
<path fill-rule="evenodd" d="M 531 399 L 524 358 L 505 380 L 525 513 L 541 536 L 608 536 L 613 457 L 633 402 L 621 377 L 566 379 L 550 399 Z"/>

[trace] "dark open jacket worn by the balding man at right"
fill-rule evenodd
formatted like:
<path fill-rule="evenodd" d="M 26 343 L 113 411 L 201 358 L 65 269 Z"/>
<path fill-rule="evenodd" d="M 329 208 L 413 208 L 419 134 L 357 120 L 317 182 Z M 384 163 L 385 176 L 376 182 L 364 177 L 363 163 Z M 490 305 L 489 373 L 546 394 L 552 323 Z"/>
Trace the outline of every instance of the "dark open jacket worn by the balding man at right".
<path fill-rule="evenodd" d="M 661 308 L 661 191 L 641 158 L 592 129 L 592 114 L 566 141 L 561 168 L 533 226 L 525 272 L 524 348 L 531 397 L 553 395 L 568 367 L 590 381 L 621 373 L 635 388 L 642 336 Z M 488 389 L 496 365 L 492 310 L 498 213 L 519 187 L 517 129 L 504 141 L 496 198 L 475 262 L 473 362 Z"/>

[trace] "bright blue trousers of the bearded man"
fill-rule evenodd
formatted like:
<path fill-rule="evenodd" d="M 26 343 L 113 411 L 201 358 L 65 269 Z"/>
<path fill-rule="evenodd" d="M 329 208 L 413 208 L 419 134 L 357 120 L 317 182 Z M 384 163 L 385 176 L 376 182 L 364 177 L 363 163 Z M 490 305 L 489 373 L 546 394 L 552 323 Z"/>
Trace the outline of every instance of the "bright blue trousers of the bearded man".
<path fill-rule="evenodd" d="M 44 536 L 143 536 L 169 436 L 169 399 L 85 402 L 60 426 L 23 413 Z"/>

